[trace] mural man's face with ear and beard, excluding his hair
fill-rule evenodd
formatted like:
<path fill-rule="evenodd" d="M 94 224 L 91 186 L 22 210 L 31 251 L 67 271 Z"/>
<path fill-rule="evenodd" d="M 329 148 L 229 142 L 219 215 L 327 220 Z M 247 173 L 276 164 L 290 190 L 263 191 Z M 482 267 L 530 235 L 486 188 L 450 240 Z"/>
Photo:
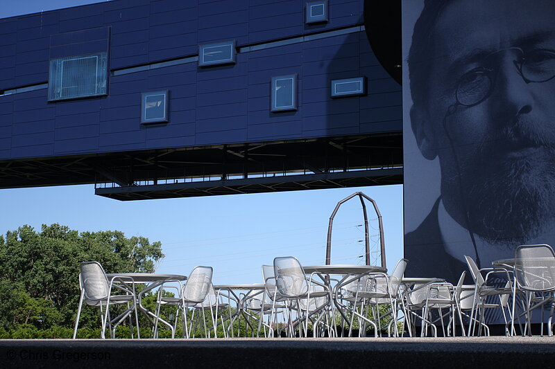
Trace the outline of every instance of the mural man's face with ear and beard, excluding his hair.
<path fill-rule="evenodd" d="M 430 40 L 426 106 L 411 110 L 420 150 L 439 157 L 445 208 L 500 245 L 553 226 L 553 19 L 549 0 L 451 1 Z"/>

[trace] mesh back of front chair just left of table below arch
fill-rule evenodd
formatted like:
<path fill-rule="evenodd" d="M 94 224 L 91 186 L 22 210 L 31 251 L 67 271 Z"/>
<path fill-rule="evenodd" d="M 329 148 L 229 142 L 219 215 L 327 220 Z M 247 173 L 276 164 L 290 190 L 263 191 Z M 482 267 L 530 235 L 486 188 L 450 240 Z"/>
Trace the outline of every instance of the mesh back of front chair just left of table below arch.
<path fill-rule="evenodd" d="M 308 293 L 308 282 L 300 262 L 293 256 L 273 260 L 275 285 L 287 298 L 298 298 Z"/>

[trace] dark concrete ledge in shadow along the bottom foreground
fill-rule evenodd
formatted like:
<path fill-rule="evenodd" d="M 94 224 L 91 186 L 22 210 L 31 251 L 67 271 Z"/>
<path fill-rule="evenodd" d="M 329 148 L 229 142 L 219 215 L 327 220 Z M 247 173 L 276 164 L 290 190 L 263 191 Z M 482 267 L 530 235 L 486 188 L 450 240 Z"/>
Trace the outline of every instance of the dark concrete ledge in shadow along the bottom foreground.
<path fill-rule="evenodd" d="M 0 368 L 513 368 L 545 366 L 555 337 L 0 340 Z"/>

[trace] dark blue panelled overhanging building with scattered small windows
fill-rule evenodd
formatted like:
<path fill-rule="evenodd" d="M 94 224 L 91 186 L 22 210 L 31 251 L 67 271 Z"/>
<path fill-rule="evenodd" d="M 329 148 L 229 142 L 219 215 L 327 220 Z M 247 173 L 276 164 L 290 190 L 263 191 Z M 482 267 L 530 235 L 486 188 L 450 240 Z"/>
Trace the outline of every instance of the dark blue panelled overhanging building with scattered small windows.
<path fill-rule="evenodd" d="M 398 169 L 401 87 L 371 50 L 363 14 L 363 0 L 116 0 L 0 19 L 0 187 L 114 183 L 98 186 L 107 195 L 168 180 Z M 227 43 L 234 60 L 219 64 Z M 145 124 L 158 92 L 166 115 Z M 294 107 L 273 109 L 283 97 Z M 366 151 L 345 154 L 353 139 Z M 10 171 L 25 165 L 35 179 Z"/>

